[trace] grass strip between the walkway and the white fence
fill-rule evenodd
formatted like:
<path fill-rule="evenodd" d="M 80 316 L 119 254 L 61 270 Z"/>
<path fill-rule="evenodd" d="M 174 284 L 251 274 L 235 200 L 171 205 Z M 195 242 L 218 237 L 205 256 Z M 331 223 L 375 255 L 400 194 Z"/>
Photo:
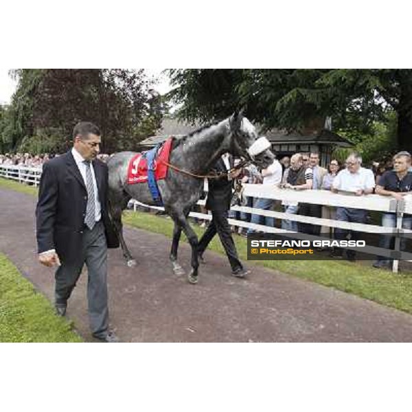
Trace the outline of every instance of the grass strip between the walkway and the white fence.
<path fill-rule="evenodd" d="M 124 212 L 124 222 L 139 229 L 161 233 L 172 237 L 172 220 L 155 216 L 145 212 Z M 198 236 L 204 229 L 192 225 Z M 247 240 L 240 236 L 233 236 L 240 259 L 247 260 Z M 185 237 L 182 236 L 182 240 Z M 224 253 L 222 244 L 216 236 L 209 244 L 211 251 Z M 365 299 L 376 301 L 404 312 L 412 313 L 412 275 L 393 274 L 389 271 L 378 270 L 361 263 L 336 261 L 291 261 L 291 260 L 264 260 L 251 261 L 256 265 L 266 266 L 282 273 L 301 277 L 311 282 L 343 290 Z"/>

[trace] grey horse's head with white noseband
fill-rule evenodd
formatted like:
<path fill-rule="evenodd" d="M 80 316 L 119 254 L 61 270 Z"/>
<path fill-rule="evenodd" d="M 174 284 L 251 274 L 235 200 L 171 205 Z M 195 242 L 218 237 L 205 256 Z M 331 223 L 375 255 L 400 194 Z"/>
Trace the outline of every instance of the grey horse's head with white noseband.
<path fill-rule="evenodd" d="M 266 137 L 259 137 L 255 126 L 242 115 L 233 113 L 229 118 L 231 130 L 231 152 L 232 155 L 244 157 L 261 168 L 267 168 L 273 163 L 275 156 L 269 150 L 270 142 Z"/>

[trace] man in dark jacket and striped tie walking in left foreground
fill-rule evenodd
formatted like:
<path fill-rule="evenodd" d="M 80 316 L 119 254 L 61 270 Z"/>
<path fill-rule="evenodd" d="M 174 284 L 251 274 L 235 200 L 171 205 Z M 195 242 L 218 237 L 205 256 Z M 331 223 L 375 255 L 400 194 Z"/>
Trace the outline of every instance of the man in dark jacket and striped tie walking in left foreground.
<path fill-rule="evenodd" d="M 96 159 L 100 130 L 80 122 L 73 148 L 43 165 L 36 207 L 38 260 L 58 266 L 55 306 L 65 316 L 67 300 L 82 271 L 88 271 L 91 332 L 100 341 L 118 339 L 108 330 L 107 247 L 119 247 L 108 216 L 108 168 Z"/>

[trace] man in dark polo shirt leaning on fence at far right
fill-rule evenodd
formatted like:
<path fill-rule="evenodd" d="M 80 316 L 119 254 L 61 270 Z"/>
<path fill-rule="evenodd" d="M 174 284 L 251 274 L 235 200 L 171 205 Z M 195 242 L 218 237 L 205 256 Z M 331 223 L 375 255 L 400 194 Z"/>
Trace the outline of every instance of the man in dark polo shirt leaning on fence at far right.
<path fill-rule="evenodd" d="M 382 196 L 392 196 L 396 200 L 401 201 L 403 196 L 411 193 L 412 191 L 412 172 L 409 172 L 411 168 L 411 155 L 409 152 L 399 152 L 393 156 L 393 170 L 387 170 L 378 181 L 376 185 L 376 194 Z M 396 214 L 384 213 L 382 214 L 382 226 L 383 227 L 396 227 Z M 404 229 L 411 229 L 412 216 L 404 214 L 402 219 L 402 227 Z M 393 236 L 385 234 L 380 237 L 379 247 L 385 249 L 391 249 L 391 241 Z M 405 239 L 401 239 L 400 247 L 404 249 Z M 373 266 L 375 268 L 388 267 L 393 262 L 392 259 L 378 256 Z"/>

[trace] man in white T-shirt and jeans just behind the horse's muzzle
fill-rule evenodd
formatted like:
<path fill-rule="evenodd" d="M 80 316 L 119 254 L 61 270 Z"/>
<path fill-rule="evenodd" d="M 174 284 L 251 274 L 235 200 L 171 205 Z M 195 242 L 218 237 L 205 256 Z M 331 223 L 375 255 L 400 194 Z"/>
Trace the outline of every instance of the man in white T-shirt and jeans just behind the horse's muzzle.
<path fill-rule="evenodd" d="M 266 169 L 262 170 L 263 185 L 266 187 L 279 187 L 282 181 L 282 165 L 275 159 L 273 163 Z M 255 202 L 255 209 L 271 210 L 273 205 L 275 205 L 275 199 L 258 198 Z M 253 214 L 251 218 L 251 223 L 260 224 L 261 219 L 264 220 L 264 225 L 269 227 L 275 227 L 275 218 L 270 218 L 268 216 L 261 216 L 258 214 Z M 247 233 L 253 233 L 253 229 L 249 229 Z"/>

